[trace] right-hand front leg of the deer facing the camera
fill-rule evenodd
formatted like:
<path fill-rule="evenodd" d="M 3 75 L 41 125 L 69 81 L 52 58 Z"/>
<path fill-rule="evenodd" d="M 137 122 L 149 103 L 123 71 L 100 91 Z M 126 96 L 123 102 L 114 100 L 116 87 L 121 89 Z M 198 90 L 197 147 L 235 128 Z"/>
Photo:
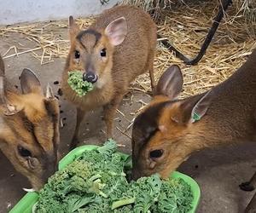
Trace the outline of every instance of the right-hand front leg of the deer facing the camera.
<path fill-rule="evenodd" d="M 107 138 L 113 138 L 113 117 L 123 99 L 124 93 L 115 95 L 113 101 L 103 107 L 104 120 L 107 125 Z"/>

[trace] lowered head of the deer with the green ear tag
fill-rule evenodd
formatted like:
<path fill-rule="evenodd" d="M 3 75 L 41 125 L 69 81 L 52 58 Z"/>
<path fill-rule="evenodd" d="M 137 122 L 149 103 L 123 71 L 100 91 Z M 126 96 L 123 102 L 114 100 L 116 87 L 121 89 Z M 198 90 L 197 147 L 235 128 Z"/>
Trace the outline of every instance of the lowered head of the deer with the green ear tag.
<path fill-rule="evenodd" d="M 170 176 L 190 153 L 201 149 L 204 133 L 197 122 L 203 118 L 212 93 L 177 100 L 183 88 L 178 66 L 170 66 L 160 77 L 153 101 L 137 116 L 132 130 L 132 178 L 159 173 Z M 201 123 L 203 124 L 203 123 Z"/>

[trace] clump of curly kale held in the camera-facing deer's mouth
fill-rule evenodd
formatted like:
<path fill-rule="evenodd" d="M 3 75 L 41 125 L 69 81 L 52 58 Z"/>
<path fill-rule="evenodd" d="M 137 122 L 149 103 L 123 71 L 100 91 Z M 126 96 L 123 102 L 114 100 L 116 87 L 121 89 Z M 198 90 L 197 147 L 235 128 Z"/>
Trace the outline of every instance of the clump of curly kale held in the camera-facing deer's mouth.
<path fill-rule="evenodd" d="M 93 89 L 93 84 L 83 80 L 83 73 L 80 71 L 68 72 L 67 83 L 80 96 L 86 95 Z"/>

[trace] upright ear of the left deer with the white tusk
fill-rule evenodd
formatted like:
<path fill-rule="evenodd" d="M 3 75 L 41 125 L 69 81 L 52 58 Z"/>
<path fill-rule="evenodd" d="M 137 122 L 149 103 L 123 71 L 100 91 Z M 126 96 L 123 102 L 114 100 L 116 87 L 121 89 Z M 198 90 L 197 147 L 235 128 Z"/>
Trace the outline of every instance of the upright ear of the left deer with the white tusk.
<path fill-rule="evenodd" d="M 37 93 L 43 95 L 43 89 L 38 77 L 32 70 L 25 68 L 20 76 L 20 86 L 23 94 Z"/>

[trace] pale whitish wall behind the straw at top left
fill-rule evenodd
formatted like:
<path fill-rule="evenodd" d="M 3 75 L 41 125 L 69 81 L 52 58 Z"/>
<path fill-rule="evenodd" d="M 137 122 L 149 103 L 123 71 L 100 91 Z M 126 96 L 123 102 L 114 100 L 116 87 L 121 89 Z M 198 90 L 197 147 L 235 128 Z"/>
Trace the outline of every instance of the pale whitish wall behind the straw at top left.
<path fill-rule="evenodd" d="M 69 15 L 89 16 L 112 7 L 118 0 L 102 6 L 100 0 L 0 0 L 0 25 L 26 21 L 67 19 Z"/>

